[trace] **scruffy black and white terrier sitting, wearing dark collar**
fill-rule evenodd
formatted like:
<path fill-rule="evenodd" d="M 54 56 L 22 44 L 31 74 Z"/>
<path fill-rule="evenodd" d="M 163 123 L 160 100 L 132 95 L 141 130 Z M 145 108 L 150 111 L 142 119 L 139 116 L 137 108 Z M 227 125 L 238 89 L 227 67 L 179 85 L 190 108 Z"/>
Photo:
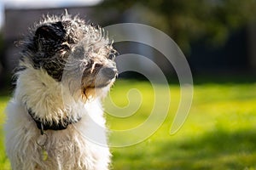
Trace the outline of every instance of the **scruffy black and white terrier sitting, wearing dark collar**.
<path fill-rule="evenodd" d="M 104 170 L 111 154 L 101 100 L 117 77 L 104 30 L 44 16 L 20 41 L 6 151 L 14 170 Z"/>

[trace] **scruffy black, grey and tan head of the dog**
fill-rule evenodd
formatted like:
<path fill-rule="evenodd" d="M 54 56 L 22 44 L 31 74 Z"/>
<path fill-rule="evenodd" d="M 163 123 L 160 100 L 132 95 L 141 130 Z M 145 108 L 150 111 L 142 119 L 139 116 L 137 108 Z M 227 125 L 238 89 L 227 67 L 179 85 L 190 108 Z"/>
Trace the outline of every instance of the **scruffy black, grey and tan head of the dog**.
<path fill-rule="evenodd" d="M 102 28 L 78 17 L 47 16 L 23 42 L 21 60 L 28 58 L 34 69 L 88 97 L 95 89 L 109 88 L 117 76 L 112 43 Z"/>

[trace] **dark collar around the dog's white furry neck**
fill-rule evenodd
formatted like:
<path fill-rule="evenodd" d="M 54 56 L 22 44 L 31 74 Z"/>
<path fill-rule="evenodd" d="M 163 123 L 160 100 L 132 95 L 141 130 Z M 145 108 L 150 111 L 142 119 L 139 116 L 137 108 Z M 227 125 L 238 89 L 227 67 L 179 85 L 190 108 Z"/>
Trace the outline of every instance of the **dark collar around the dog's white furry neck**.
<path fill-rule="evenodd" d="M 34 122 L 36 122 L 38 129 L 40 130 L 41 134 L 44 134 L 45 130 L 63 130 L 68 127 L 69 124 L 73 124 L 79 122 L 82 117 L 79 117 L 77 120 L 69 119 L 68 117 L 62 118 L 58 123 L 57 122 L 42 122 L 40 118 L 35 116 L 36 114 L 32 111 L 32 109 L 27 109 L 28 114 L 32 117 Z"/>

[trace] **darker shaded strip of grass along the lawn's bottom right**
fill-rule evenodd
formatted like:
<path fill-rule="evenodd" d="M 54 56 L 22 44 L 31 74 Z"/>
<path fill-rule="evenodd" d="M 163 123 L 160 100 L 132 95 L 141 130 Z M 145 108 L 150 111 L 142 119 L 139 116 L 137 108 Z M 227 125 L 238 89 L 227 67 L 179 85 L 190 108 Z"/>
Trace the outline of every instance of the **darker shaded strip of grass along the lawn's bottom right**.
<path fill-rule="evenodd" d="M 201 137 L 144 142 L 113 152 L 113 169 L 222 170 L 256 168 L 256 129 L 216 130 Z M 131 152 L 131 150 L 137 150 Z M 114 164 L 119 162 L 119 164 Z M 122 163 L 120 163 L 122 162 Z"/>

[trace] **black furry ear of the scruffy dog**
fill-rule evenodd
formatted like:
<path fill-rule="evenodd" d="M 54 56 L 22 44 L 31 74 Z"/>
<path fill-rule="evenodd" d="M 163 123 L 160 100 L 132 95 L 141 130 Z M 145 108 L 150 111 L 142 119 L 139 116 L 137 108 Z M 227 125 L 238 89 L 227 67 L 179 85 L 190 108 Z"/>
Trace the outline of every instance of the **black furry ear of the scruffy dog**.
<path fill-rule="evenodd" d="M 45 24 L 38 27 L 35 32 L 34 42 L 40 46 L 50 46 L 54 45 L 53 42 L 63 42 L 66 35 L 66 31 L 61 22 L 55 22 L 50 24 Z M 42 47 L 41 47 L 42 48 Z"/>

